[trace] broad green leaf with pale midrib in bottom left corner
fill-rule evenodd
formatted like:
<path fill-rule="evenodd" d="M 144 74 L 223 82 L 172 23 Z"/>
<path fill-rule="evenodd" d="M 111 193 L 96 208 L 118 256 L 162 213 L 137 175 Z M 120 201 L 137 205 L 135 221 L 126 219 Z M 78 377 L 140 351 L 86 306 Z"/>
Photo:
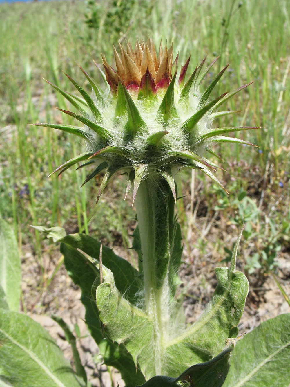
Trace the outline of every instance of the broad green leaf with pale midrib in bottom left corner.
<path fill-rule="evenodd" d="M 84 386 L 56 342 L 38 322 L 3 309 L 0 309 L 0 379 L 14 387 Z"/>

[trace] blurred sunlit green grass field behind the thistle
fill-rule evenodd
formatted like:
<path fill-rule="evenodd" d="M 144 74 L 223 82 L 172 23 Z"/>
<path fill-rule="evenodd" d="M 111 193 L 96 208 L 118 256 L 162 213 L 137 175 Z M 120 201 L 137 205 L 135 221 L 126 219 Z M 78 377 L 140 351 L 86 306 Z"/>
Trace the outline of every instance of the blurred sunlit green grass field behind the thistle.
<path fill-rule="evenodd" d="M 181 178 L 180 196 L 186 196 L 179 200 L 178 209 L 188 250 L 193 249 L 189 246 L 191 229 L 200 236 L 201 248 L 217 219 L 223 220 L 219 226 L 225 234 L 227 222 L 236 228 L 243 219 L 250 226 L 252 222 L 248 232 L 256 241 L 249 259 L 256 253 L 257 260 L 263 255 L 265 243 L 257 244 L 259 238 L 288 248 L 290 1 L 152 0 L 144 13 L 139 2 L 133 1 L 129 21 L 121 31 L 114 24 L 106 27 L 110 2 L 106 4 L 99 3 L 96 29 L 85 22 L 92 7 L 84 1 L 0 4 L 0 215 L 14 227 L 19 248 L 32 243 L 43 269 L 42 236 L 30 225 L 65 226 L 69 232 L 90 233 L 108 243 L 113 243 L 118 233 L 123 246 L 130 247 L 127 231 L 135 214 L 128 201 L 123 201 L 123 176 L 110 185 L 96 207 L 100 181 L 92 180 L 80 188 L 88 173 L 84 168 L 68 170 L 59 178 L 48 177 L 57 166 L 83 151 L 82 141 L 28 123 L 77 124 L 55 109 L 72 107 L 43 78 L 73 92 L 63 70 L 89 91 L 78 64 L 102 84 L 93 59 L 101 65 L 101 53 L 105 53 L 114 65 L 112 44 L 117 46 L 118 38 L 134 43 L 148 35 L 157 47 L 161 38 L 168 44 L 173 39 L 179 63 L 184 64 L 191 54 L 191 71 L 204 57 L 209 64 L 220 55 L 210 76 L 230 62 L 217 91 L 220 94 L 254 82 L 224 106 L 224 110 L 237 113 L 221 117 L 218 123 L 220 127 L 261 127 L 239 134 L 259 148 L 215 147 L 227 170 L 218 175 L 229 195 L 200 173 L 185 173 Z M 243 192 L 252 201 L 243 202 L 241 207 Z M 200 202 L 205 214 L 199 211 Z M 201 223 L 195 223 L 198 216 L 203 219 Z M 251 240 L 249 235 L 245 238 Z M 217 249 L 222 259 L 223 241 Z M 250 269 L 255 269 L 255 262 L 249 262 Z"/>

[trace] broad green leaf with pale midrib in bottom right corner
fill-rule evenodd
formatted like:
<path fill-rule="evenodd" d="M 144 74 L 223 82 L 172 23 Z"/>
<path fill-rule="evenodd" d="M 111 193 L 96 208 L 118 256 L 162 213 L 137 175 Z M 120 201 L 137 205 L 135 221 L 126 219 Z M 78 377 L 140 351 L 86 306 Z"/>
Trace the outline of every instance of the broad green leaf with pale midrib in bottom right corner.
<path fill-rule="evenodd" d="M 290 385 L 290 313 L 262 322 L 237 342 L 224 387 Z"/>

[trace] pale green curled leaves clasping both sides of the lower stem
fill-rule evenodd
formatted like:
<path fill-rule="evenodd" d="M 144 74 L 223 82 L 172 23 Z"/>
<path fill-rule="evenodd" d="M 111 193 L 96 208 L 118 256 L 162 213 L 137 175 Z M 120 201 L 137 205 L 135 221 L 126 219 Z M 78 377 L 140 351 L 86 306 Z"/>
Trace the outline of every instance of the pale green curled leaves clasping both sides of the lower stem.
<path fill-rule="evenodd" d="M 235 256 L 236 249 L 229 269 L 216 269 L 218 286 L 200 318 L 186 329 L 172 326 L 161 342 L 155 340 L 151 317 L 122 296 L 113 273 L 104 269 L 104 283 L 96 292 L 101 320 L 108 336 L 125 344 L 147 380 L 156 375 L 156 364 L 163 375 L 176 377 L 192 364 L 216 356 L 227 338 L 237 336 L 249 284 L 242 272 L 235 271 Z"/>

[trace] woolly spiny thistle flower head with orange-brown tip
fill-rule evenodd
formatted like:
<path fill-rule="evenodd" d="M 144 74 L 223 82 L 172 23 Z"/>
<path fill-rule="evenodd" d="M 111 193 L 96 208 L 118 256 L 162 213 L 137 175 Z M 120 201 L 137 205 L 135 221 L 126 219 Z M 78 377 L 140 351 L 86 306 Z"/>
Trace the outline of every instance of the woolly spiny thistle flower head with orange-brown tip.
<path fill-rule="evenodd" d="M 97 200 L 109 180 L 119 171 L 128 176 L 126 194 L 133 184 L 133 201 L 142 180 L 155 180 L 161 176 L 167 180 L 176 199 L 174 175 L 184 167 L 198 168 L 221 185 L 212 173 L 212 170 L 218 168 L 217 165 L 204 155 L 206 152 L 215 155 L 210 147 L 216 142 L 252 145 L 225 136 L 229 132 L 252 127 L 213 129 L 212 122 L 217 109 L 249 84 L 210 100 L 215 85 L 228 66 L 217 74 L 201 94 L 200 83 L 217 59 L 205 71 L 202 71 L 203 60 L 185 82 L 190 57 L 181 67 L 177 80 L 178 55 L 172 63 L 172 51 L 172 46 L 167 50 L 161 42 L 157 57 L 155 46 L 150 40 L 146 44 L 137 41 L 134 49 L 131 45 L 127 45 L 126 49 L 120 46 L 120 54 L 114 48 L 116 72 L 103 57 L 106 82 L 110 86 L 104 92 L 80 67 L 92 86 L 92 96 L 68 75 L 82 98 L 72 96 L 48 82 L 72 103 L 78 114 L 61 111 L 76 118 L 84 126 L 48 123 L 34 125 L 75 134 L 85 139 L 87 144 L 86 152 L 62 164 L 53 173 L 61 174 L 80 161 L 86 161 L 82 166 L 96 163 L 96 169 L 87 176 L 84 183 L 106 170 Z M 218 113 L 219 116 L 222 114 Z"/>

